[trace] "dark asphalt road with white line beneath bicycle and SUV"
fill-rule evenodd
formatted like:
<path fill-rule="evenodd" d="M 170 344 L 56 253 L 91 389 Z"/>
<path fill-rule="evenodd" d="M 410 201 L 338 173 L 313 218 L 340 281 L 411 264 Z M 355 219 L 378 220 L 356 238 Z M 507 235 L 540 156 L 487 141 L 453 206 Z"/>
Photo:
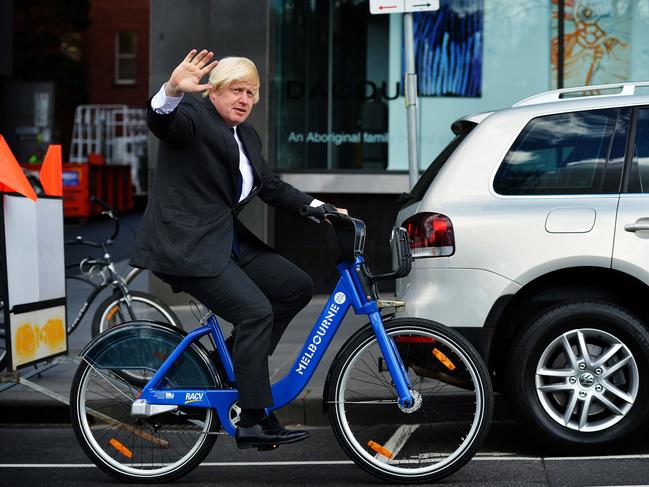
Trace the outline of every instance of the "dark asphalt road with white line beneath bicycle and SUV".
<path fill-rule="evenodd" d="M 376 485 L 354 465 L 327 427 L 307 428 L 311 437 L 272 452 L 237 450 L 219 437 L 203 465 L 173 485 Z M 0 485 L 123 485 L 97 469 L 67 426 L 0 427 Z M 616 455 L 556 456 L 529 444 L 515 422 L 497 422 L 478 453 L 447 477 L 449 486 L 613 486 L 646 485 L 649 442 Z M 577 453 L 577 452 L 576 452 Z"/>

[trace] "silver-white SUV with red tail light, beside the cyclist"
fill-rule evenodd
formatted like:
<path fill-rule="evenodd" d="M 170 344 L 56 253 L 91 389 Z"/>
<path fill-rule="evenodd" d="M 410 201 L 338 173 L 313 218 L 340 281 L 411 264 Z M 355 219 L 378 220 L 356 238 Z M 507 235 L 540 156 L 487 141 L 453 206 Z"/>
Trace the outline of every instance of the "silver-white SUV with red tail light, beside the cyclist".
<path fill-rule="evenodd" d="M 617 443 L 649 413 L 649 83 L 467 116 L 402 198 L 402 314 L 458 329 L 544 438 Z"/>

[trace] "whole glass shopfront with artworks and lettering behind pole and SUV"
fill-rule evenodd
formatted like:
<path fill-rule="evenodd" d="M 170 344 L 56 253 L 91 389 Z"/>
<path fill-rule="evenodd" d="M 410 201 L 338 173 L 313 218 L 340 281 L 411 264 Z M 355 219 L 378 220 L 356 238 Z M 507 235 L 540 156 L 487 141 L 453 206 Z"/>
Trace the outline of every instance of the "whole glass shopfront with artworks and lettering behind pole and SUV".
<path fill-rule="evenodd" d="M 407 170 L 402 16 L 367 0 L 270 5 L 278 171 Z M 457 118 L 555 88 L 559 52 L 563 86 L 649 79 L 649 0 L 446 0 L 414 25 L 422 170 Z"/>

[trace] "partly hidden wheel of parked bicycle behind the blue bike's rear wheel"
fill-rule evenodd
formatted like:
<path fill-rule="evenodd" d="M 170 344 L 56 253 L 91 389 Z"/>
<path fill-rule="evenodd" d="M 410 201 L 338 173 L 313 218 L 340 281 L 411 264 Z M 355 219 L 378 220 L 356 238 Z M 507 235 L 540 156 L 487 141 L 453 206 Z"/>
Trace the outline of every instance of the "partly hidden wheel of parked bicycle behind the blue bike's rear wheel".
<path fill-rule="evenodd" d="M 183 329 L 180 318 L 160 298 L 142 291 L 129 291 L 129 294 L 131 295 L 131 302 L 134 303 L 135 309 L 133 311 L 136 319 L 161 321 L 174 325 L 181 330 Z M 91 333 L 93 338 L 114 326 L 131 321 L 132 318 L 128 310 L 121 310 L 123 303 L 123 296 L 113 294 L 97 306 L 97 310 L 92 317 Z"/>

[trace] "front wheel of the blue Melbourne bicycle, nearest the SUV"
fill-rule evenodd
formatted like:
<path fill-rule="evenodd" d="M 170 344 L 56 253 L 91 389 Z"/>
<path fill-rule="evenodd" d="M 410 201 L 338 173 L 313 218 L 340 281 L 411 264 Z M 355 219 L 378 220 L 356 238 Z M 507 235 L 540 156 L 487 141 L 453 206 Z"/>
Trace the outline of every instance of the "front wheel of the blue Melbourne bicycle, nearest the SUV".
<path fill-rule="evenodd" d="M 416 404 L 398 394 L 371 327 L 354 335 L 334 361 L 329 418 L 347 454 L 364 470 L 393 482 L 446 477 L 475 454 L 491 421 L 491 382 L 461 335 L 414 318 L 385 323 L 407 369 Z"/>

